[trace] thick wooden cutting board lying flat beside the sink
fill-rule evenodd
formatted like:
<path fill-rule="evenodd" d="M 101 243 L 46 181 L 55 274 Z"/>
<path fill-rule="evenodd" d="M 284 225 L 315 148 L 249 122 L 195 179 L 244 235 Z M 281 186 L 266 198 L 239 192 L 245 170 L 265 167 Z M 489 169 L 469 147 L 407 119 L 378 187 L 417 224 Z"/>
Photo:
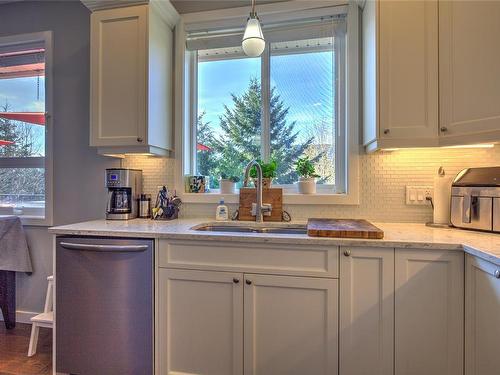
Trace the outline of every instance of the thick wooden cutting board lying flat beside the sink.
<path fill-rule="evenodd" d="M 336 238 L 384 238 L 384 232 L 375 225 L 366 220 L 355 219 L 309 219 L 307 235 Z"/>

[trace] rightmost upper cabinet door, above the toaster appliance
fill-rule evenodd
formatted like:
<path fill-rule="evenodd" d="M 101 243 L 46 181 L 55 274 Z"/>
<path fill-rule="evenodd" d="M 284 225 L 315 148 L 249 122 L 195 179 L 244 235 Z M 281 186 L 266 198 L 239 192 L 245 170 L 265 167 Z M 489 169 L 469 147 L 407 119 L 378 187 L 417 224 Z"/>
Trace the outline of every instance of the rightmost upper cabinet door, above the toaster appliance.
<path fill-rule="evenodd" d="M 441 143 L 500 140 L 499 20 L 499 1 L 439 2 Z"/>

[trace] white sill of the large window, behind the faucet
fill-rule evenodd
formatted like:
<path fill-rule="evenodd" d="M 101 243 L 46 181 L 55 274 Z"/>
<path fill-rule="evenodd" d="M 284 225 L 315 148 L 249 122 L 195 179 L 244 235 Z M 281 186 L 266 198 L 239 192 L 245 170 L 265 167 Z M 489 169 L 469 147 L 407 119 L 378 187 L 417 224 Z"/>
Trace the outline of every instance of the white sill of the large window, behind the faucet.
<path fill-rule="evenodd" d="M 211 193 L 183 193 L 181 199 L 184 203 L 219 203 L 224 198 L 225 203 L 239 203 L 239 194 L 220 194 L 218 191 Z M 283 193 L 284 204 L 338 204 L 357 205 L 359 197 L 356 194 L 298 194 Z"/>

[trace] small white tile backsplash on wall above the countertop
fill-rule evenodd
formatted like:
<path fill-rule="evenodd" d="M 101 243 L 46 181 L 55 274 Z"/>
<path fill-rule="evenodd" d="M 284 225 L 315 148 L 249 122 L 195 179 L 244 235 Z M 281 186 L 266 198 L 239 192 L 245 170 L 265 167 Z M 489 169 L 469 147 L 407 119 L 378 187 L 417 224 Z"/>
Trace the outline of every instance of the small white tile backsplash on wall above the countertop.
<path fill-rule="evenodd" d="M 308 217 L 366 218 L 381 222 L 427 222 L 432 219 L 429 206 L 408 206 L 406 185 L 432 186 L 440 166 L 455 175 L 467 167 L 500 165 L 500 145 L 475 149 L 410 149 L 377 152 L 360 156 L 359 205 L 287 205 L 293 219 Z M 127 156 L 124 168 L 143 170 L 145 193 L 156 194 L 157 186 L 174 186 L 174 160 L 167 158 Z M 230 205 L 230 209 L 236 209 Z M 214 216 L 213 204 L 184 204 L 184 217 Z"/>

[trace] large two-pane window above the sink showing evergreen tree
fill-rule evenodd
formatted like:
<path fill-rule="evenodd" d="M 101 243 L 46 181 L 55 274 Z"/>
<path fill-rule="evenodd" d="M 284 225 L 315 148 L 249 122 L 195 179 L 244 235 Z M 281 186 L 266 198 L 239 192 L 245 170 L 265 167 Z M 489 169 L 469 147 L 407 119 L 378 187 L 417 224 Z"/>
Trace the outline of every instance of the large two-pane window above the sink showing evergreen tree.
<path fill-rule="evenodd" d="M 264 23 L 257 58 L 244 54 L 240 30 L 187 33 L 184 174 L 210 176 L 216 193 L 221 175 L 242 177 L 252 159 L 275 161 L 273 185 L 293 195 L 295 162 L 308 157 L 319 195 L 347 196 L 347 7 L 334 8 Z"/>

